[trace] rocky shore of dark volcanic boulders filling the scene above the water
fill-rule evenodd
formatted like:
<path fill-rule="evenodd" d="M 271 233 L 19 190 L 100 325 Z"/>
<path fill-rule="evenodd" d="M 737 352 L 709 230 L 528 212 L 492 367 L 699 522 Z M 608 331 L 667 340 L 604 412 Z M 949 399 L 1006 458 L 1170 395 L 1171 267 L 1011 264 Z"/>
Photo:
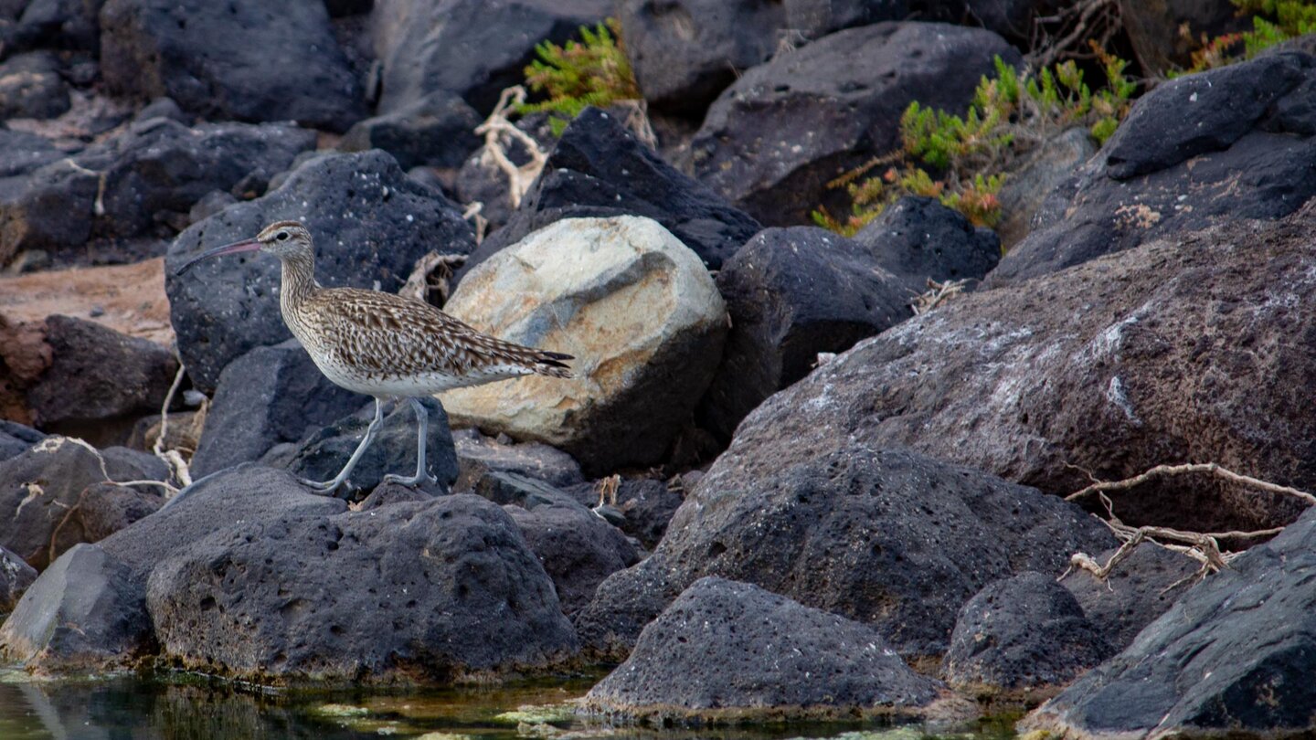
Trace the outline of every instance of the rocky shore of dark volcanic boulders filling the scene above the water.
<path fill-rule="evenodd" d="M 1316 731 L 1309 40 L 1146 84 L 1104 146 L 1051 132 L 998 230 L 926 198 L 809 225 L 909 101 L 963 111 L 1074 5 L 0 1 L 0 656 L 271 685 L 603 662 L 582 711 L 659 726 L 1004 700 L 1074 737 Z M 1108 5 L 1149 78 L 1180 25 L 1241 28 Z M 475 128 L 608 16 L 657 142 L 625 107 L 528 116 L 513 190 Z M 272 258 L 175 274 L 283 219 L 328 286 L 451 266 L 432 303 L 575 378 L 426 400 L 416 489 L 382 483 L 416 457 L 390 408 L 313 495 L 370 399 L 291 338 Z M 1066 500 L 1190 462 L 1271 486 Z"/>

